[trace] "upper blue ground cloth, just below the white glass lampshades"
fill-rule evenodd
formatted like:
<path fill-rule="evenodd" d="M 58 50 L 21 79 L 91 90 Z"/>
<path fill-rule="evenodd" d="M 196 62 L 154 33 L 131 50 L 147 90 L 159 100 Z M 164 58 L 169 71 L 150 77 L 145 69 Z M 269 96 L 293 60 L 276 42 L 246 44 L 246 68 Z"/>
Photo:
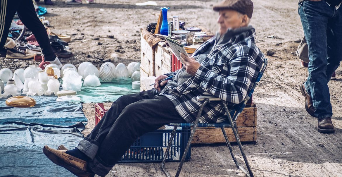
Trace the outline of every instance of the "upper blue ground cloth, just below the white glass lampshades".
<path fill-rule="evenodd" d="M 60 104 L 57 97 L 34 96 L 36 105 L 30 108 L 14 108 L 0 99 L 0 124 L 8 122 L 40 123 L 53 125 L 73 125 L 76 122 L 88 121 L 82 112 L 82 104 Z"/>

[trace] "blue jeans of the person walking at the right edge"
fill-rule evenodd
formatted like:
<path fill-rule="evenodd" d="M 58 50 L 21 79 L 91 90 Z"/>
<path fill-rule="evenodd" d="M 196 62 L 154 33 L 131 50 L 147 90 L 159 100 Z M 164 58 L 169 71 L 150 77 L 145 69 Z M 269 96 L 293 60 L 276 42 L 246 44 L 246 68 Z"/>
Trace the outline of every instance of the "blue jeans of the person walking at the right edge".
<path fill-rule="evenodd" d="M 318 119 L 332 116 L 328 82 L 342 61 L 342 7 L 325 0 L 299 4 L 305 38 L 309 47 L 306 91 L 311 95 Z"/>

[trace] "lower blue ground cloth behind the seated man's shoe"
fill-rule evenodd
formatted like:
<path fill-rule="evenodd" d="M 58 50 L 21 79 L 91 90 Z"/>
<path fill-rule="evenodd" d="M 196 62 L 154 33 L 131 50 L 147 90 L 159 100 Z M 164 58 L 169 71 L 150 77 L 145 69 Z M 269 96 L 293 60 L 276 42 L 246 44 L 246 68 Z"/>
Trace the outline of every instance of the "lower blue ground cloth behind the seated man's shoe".
<path fill-rule="evenodd" d="M 42 152 L 44 145 L 57 148 L 63 144 L 73 149 L 83 138 L 79 122 L 71 126 L 13 122 L 0 125 L 0 176 L 74 176 L 53 164 Z"/>

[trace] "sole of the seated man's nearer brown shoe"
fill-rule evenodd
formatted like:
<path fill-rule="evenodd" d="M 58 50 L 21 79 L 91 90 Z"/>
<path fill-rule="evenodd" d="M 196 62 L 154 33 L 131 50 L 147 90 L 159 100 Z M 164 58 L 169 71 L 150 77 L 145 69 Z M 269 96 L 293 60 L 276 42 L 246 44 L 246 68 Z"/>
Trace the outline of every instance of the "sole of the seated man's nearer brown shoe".
<path fill-rule="evenodd" d="M 89 174 L 84 174 L 85 172 L 77 169 L 73 166 L 67 165 L 62 159 L 60 159 L 59 156 L 57 156 L 56 154 L 54 154 L 53 152 L 49 151 L 48 149 L 46 149 L 45 147 L 43 147 L 43 153 L 45 154 L 45 156 L 48 157 L 48 159 L 53 162 L 54 164 L 64 167 L 65 169 L 67 169 L 69 172 L 73 173 L 74 175 L 78 176 L 78 177 L 93 177 L 95 175 L 89 175 Z M 87 172 L 86 172 L 87 173 Z"/>

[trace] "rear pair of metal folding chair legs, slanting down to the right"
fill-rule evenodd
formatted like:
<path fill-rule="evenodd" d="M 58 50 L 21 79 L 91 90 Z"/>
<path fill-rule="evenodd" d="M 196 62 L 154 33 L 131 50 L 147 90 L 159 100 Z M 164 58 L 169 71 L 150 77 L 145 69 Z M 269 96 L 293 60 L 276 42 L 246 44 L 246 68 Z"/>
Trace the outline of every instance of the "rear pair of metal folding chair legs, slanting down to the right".
<path fill-rule="evenodd" d="M 234 162 L 236 161 L 236 162 L 235 162 L 236 166 L 237 166 L 242 172 L 244 172 L 248 177 L 254 177 L 253 172 L 252 172 L 252 170 L 251 170 L 251 167 L 250 167 L 250 165 L 249 165 L 249 163 L 248 163 L 247 157 L 246 157 L 246 155 L 245 155 L 245 152 L 244 152 L 244 150 L 242 149 L 242 144 L 241 144 L 241 142 L 240 142 L 240 138 L 239 138 L 239 134 L 238 134 L 238 131 L 237 131 L 236 122 L 233 121 L 231 115 L 229 114 L 229 110 L 228 110 L 227 104 L 226 104 L 224 101 L 222 101 L 222 103 L 223 103 L 223 105 L 224 105 L 225 111 L 227 112 L 227 117 L 228 117 L 229 123 L 231 123 L 231 125 L 232 125 L 232 130 L 233 130 L 233 133 L 234 133 L 236 142 L 237 142 L 237 144 L 238 144 L 238 146 L 239 146 L 239 149 L 240 149 L 240 151 L 241 151 L 242 157 L 244 157 L 244 161 L 245 161 L 245 164 L 246 164 L 246 166 L 247 166 L 248 172 L 247 172 L 241 165 L 238 166 L 238 163 L 236 163 L 237 161 L 236 161 L 236 159 L 235 159 L 234 157 L 233 157 L 233 160 L 235 159 Z M 224 136 L 225 136 L 225 138 L 226 138 L 227 146 L 228 146 L 228 148 L 229 148 L 230 145 L 228 145 L 228 144 L 230 144 L 230 143 L 229 143 L 229 141 L 227 141 L 228 138 L 227 138 L 227 135 L 225 135 L 226 132 L 224 131 L 223 128 L 222 128 L 222 133 L 224 134 Z M 232 148 L 232 146 L 230 146 L 229 150 L 231 150 L 231 148 Z M 232 150 L 231 150 L 231 154 L 232 154 L 232 156 L 234 156 Z"/>

